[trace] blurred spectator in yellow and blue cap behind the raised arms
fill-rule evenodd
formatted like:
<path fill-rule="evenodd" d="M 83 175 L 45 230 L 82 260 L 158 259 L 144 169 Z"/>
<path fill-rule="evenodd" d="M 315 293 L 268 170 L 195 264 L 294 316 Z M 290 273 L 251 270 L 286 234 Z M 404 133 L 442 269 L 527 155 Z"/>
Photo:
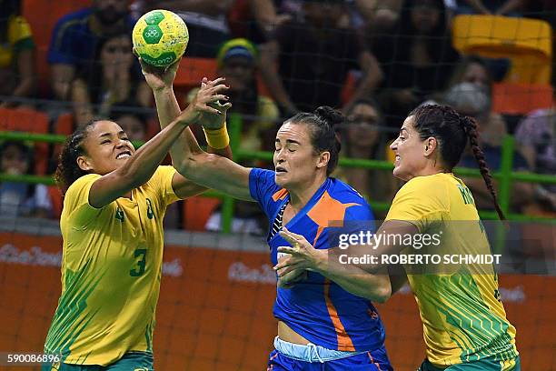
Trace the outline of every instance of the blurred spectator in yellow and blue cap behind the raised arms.
<path fill-rule="evenodd" d="M 273 100 L 259 94 L 256 80 L 257 51 L 246 39 L 237 38 L 221 46 L 216 56 L 217 75 L 225 77 L 230 89 L 232 108 L 228 113 L 241 114 L 243 118 L 242 138 L 239 147 L 245 151 L 270 151 L 273 149 L 278 108 Z M 197 89 L 188 95 L 194 98 Z M 228 115 L 230 117 L 230 115 Z M 261 165 L 242 162 L 243 165 Z M 233 216 L 233 232 L 263 234 L 266 218 L 260 208 L 251 202 L 238 201 Z M 207 222 L 207 230 L 220 230 L 221 213 L 216 211 Z"/>

